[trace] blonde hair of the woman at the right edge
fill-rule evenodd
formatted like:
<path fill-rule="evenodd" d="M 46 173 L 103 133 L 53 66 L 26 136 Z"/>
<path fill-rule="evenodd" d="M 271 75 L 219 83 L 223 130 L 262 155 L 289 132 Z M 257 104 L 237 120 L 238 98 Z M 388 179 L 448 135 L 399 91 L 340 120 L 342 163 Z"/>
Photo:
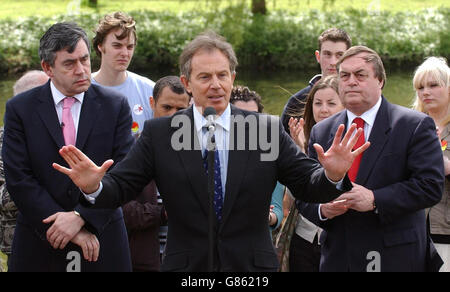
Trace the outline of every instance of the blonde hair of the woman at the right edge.
<path fill-rule="evenodd" d="M 427 58 L 415 71 L 413 78 L 413 87 L 416 91 L 413 108 L 417 111 L 425 112 L 422 102 L 420 101 L 417 91 L 420 87 L 425 85 L 425 82 L 431 79 L 439 84 L 441 87 L 450 86 L 450 68 L 447 61 L 442 57 Z M 447 114 L 445 124 L 450 122 L 450 113 Z"/>

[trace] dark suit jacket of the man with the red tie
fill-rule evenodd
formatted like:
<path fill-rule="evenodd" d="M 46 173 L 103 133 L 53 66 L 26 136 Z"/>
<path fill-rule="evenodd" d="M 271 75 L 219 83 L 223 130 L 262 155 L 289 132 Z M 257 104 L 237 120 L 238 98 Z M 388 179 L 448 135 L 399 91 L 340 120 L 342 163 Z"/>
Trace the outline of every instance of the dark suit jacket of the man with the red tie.
<path fill-rule="evenodd" d="M 312 157 L 317 155 L 312 145 L 328 149 L 340 124 L 347 125 L 346 111 L 313 128 Z M 424 271 L 424 209 L 440 201 L 444 184 L 436 126 L 430 117 L 383 97 L 369 141 L 355 183 L 374 192 L 377 213 L 349 210 L 321 222 L 317 205 L 301 204 L 301 213 L 325 230 L 320 269 L 366 271 L 378 260 L 369 254 L 375 251 L 381 271 Z"/>

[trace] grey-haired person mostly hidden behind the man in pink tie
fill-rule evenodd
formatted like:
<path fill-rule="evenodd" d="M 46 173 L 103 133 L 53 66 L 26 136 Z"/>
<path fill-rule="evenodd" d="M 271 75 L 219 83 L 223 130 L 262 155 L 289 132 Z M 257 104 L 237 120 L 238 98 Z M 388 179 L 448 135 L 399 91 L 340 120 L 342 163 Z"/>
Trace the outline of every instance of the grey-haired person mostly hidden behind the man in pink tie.
<path fill-rule="evenodd" d="M 32 70 L 20 77 L 13 86 L 14 95 L 45 84 L 48 76 L 43 71 Z M 3 145 L 3 126 L 0 128 L 0 152 Z M 16 227 L 17 207 L 6 189 L 3 159 L 0 156 L 0 250 L 8 257 L 11 255 L 11 244 Z"/>

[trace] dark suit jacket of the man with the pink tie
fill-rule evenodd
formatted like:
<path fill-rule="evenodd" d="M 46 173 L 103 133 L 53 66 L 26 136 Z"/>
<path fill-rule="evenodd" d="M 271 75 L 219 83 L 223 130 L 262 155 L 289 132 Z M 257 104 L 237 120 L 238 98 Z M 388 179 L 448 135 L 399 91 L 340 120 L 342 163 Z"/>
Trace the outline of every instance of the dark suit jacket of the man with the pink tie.
<path fill-rule="evenodd" d="M 76 146 L 97 165 L 121 160 L 133 144 L 131 115 L 121 95 L 91 86 L 84 95 Z M 131 270 L 122 210 L 94 210 L 80 203 L 79 189 L 52 163 L 66 165 L 64 146 L 50 82 L 12 98 L 6 104 L 3 160 L 7 188 L 19 209 L 12 249 L 12 271 L 65 271 L 69 251 L 81 254 L 81 271 Z M 50 225 L 42 220 L 56 212 L 77 210 L 85 227 L 100 242 L 96 263 L 83 259 L 69 243 L 54 250 L 46 239 Z"/>

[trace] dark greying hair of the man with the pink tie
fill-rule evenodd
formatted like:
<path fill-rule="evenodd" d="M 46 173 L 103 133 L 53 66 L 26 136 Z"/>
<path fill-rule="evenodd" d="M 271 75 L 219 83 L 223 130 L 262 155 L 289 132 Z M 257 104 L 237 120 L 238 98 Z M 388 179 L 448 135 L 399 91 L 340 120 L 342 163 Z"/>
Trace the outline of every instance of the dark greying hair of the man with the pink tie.
<path fill-rule="evenodd" d="M 39 58 L 54 66 L 56 52 L 67 50 L 72 53 L 82 39 L 90 51 L 86 32 L 74 22 L 60 22 L 52 25 L 42 36 L 39 43 Z"/>

